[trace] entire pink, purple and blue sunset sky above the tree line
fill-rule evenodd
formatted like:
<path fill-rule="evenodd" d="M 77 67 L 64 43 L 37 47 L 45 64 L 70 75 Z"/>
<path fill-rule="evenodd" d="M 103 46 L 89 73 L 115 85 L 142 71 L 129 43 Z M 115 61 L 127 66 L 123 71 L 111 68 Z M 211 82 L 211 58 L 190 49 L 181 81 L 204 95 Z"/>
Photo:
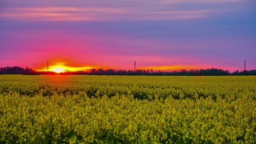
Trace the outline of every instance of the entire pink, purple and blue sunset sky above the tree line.
<path fill-rule="evenodd" d="M 0 67 L 256 69 L 255 0 L 1 0 Z"/>

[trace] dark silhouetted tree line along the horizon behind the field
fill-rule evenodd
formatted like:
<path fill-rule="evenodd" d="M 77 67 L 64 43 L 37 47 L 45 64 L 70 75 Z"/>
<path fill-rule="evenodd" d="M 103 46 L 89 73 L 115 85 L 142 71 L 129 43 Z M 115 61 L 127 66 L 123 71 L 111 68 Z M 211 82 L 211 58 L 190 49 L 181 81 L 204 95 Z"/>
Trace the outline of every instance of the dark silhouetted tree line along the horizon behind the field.
<path fill-rule="evenodd" d="M 21 75 L 173 75 L 173 76 L 219 76 L 219 75 L 256 75 L 256 70 L 235 71 L 230 73 L 228 70 L 222 69 L 192 69 L 192 70 L 175 70 L 175 71 L 160 71 L 160 70 L 115 70 L 115 69 L 91 69 L 88 71 L 68 71 L 63 73 L 55 73 L 53 71 L 36 71 L 30 68 L 20 67 L 4 67 L 0 68 L 0 74 L 21 74 Z"/>

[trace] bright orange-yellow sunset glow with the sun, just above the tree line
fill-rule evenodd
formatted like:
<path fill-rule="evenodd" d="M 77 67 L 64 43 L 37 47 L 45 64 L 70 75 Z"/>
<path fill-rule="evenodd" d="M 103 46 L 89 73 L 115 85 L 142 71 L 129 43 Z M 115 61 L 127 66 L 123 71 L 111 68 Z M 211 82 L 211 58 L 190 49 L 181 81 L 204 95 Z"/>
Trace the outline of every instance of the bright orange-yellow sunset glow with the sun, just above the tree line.
<path fill-rule="evenodd" d="M 56 56 L 57 57 L 57 56 Z M 85 64 L 88 63 L 88 64 Z M 80 59 L 75 58 L 65 58 L 65 57 L 59 57 L 59 58 L 52 58 L 49 60 L 49 71 L 54 71 L 56 73 L 62 73 L 64 71 L 88 71 L 91 69 L 117 69 L 117 70 L 131 70 L 131 67 L 119 67 L 118 65 L 108 65 L 104 62 L 98 62 L 94 64 L 90 64 L 90 62 L 81 63 Z M 105 66 L 103 66 L 104 64 Z M 211 69 L 216 68 L 214 65 L 201 65 L 201 64 L 195 64 L 195 65 L 152 65 L 152 66 L 146 66 L 140 65 L 141 67 L 138 67 L 139 70 L 161 70 L 161 71 L 174 71 L 174 70 L 191 70 L 191 69 Z M 220 67 L 217 67 L 220 68 Z M 47 63 L 42 63 L 34 68 L 37 71 L 47 71 Z"/>

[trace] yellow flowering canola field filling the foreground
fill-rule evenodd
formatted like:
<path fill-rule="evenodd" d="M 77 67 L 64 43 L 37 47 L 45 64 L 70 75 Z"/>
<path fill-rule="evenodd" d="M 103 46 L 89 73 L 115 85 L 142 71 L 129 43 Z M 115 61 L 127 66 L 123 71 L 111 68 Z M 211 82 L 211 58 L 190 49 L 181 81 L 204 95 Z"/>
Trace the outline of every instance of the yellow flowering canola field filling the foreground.
<path fill-rule="evenodd" d="M 0 143 L 256 143 L 256 76 L 0 75 Z"/>

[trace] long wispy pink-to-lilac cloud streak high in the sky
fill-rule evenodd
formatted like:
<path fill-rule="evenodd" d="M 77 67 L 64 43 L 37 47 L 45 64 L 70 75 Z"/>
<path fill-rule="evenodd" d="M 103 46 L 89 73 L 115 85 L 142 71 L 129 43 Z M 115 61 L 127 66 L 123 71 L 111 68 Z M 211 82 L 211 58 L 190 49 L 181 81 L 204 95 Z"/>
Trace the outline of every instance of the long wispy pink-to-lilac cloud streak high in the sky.
<path fill-rule="evenodd" d="M 218 12 L 213 9 L 182 11 L 150 8 L 39 7 L 9 9 L 8 13 L 1 13 L 0 17 L 24 21 L 141 21 L 195 19 Z"/>

